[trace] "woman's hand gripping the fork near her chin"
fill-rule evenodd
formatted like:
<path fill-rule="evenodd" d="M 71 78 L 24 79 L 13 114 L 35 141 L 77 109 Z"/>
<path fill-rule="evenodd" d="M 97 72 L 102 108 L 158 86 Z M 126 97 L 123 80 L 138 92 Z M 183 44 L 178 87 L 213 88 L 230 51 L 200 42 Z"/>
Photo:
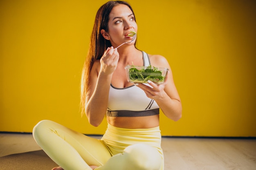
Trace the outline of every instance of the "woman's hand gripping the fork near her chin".
<path fill-rule="evenodd" d="M 100 72 L 106 74 L 112 74 L 117 68 L 117 62 L 119 60 L 119 53 L 112 46 L 104 52 L 101 57 L 101 70 Z"/>

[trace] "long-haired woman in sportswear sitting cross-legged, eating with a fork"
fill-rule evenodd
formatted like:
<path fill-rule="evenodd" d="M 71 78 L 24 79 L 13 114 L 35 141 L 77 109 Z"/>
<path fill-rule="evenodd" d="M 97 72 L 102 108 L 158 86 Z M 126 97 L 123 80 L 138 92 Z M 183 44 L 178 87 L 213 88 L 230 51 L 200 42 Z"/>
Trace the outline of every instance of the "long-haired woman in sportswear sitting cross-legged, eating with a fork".
<path fill-rule="evenodd" d="M 40 121 L 33 135 L 61 166 L 53 170 L 164 170 L 159 108 L 177 121 L 180 97 L 167 60 L 139 51 L 130 42 L 130 31 L 137 32 L 137 24 L 127 2 L 109 1 L 98 10 L 83 68 L 81 104 L 90 124 L 99 126 L 107 116 L 108 128 L 98 140 Z M 115 49 L 124 42 L 129 43 Z M 124 69 L 132 63 L 166 67 L 170 73 L 161 85 L 132 84 Z"/>

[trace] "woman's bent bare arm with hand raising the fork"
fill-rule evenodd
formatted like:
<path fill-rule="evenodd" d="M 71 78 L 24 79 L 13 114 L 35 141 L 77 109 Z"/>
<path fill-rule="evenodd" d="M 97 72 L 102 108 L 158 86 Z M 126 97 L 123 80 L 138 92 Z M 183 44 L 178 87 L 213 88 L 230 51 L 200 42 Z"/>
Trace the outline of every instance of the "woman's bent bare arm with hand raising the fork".
<path fill-rule="evenodd" d="M 119 54 L 113 47 L 108 48 L 100 62 L 94 62 L 90 73 L 85 99 L 85 114 L 93 126 L 99 126 L 108 107 L 108 95 L 112 74 L 117 68 Z"/>

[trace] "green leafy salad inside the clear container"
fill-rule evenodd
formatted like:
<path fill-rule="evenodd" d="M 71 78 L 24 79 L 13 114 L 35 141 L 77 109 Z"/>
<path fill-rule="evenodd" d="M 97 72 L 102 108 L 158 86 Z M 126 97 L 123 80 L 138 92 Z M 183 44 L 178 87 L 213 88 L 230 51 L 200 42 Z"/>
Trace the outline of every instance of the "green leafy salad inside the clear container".
<path fill-rule="evenodd" d="M 132 82 L 147 82 L 150 80 L 155 83 L 164 82 L 165 78 L 162 76 L 162 71 L 159 71 L 158 68 L 154 66 L 148 66 L 146 69 L 130 68 L 129 77 Z"/>

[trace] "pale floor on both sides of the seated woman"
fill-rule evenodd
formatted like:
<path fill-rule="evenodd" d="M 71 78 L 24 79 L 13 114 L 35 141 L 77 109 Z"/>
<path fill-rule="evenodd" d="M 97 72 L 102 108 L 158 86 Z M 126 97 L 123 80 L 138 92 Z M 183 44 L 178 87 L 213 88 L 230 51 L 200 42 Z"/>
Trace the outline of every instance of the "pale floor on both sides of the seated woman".
<path fill-rule="evenodd" d="M 163 137 L 162 148 L 165 170 L 256 170 L 256 139 Z M 0 157 L 34 150 L 31 134 L 0 133 Z"/>

